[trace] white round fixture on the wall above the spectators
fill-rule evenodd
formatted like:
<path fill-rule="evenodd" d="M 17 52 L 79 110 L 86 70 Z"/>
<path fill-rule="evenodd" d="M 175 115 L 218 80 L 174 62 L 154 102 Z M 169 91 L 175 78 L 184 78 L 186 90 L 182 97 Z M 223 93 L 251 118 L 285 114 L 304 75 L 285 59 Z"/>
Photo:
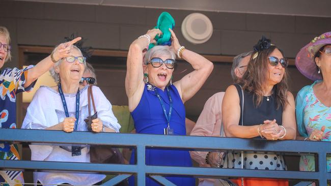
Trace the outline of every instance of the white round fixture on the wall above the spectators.
<path fill-rule="evenodd" d="M 213 25 L 207 16 L 192 13 L 183 20 L 182 34 L 187 41 L 193 44 L 205 43 L 213 34 Z"/>

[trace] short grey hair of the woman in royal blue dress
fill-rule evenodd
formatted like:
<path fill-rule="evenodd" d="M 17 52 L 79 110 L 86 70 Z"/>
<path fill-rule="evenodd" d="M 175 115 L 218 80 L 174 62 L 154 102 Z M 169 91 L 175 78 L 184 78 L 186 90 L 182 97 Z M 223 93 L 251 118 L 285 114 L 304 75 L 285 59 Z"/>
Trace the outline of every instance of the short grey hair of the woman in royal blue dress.
<path fill-rule="evenodd" d="M 156 55 L 170 55 L 170 57 L 172 59 L 176 59 L 176 54 L 175 52 L 172 50 L 171 47 L 169 47 L 168 45 L 165 46 L 154 46 L 153 48 L 151 48 L 150 50 L 148 50 L 145 54 L 144 57 L 144 65 L 148 64 L 148 61 L 151 60 L 151 58 L 155 57 Z"/>

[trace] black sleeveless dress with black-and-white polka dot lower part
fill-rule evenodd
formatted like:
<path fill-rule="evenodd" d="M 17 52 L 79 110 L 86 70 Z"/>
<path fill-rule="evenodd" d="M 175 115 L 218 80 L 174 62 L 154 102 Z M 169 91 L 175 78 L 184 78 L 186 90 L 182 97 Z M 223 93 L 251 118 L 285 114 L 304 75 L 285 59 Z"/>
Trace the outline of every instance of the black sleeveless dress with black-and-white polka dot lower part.
<path fill-rule="evenodd" d="M 240 120 L 243 119 L 243 126 L 255 126 L 262 124 L 264 120 L 276 119 L 278 125 L 282 125 L 283 107 L 277 109 L 277 105 L 273 96 L 264 97 L 260 106 L 256 107 L 253 100 L 253 94 L 244 92 L 244 106 L 243 106 L 243 118 L 241 113 L 242 106 L 242 91 L 239 84 L 235 84 L 239 98 L 240 98 Z M 267 101 L 267 99 L 269 101 Z M 256 139 L 261 139 L 260 136 Z M 225 157 L 224 167 L 241 169 L 241 153 L 228 153 Z M 264 170 L 286 170 L 284 158 L 281 155 L 274 154 L 272 152 L 254 152 L 244 153 L 245 169 L 264 169 Z"/>

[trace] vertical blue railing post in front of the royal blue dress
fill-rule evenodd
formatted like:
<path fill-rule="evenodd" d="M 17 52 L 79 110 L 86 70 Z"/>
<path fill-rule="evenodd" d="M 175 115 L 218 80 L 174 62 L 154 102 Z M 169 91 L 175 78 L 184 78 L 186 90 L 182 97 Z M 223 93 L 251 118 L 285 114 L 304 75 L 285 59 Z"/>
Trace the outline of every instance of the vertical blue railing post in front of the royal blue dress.
<path fill-rule="evenodd" d="M 145 145 L 137 145 L 137 183 L 138 186 L 146 185 L 146 163 L 145 163 Z"/>

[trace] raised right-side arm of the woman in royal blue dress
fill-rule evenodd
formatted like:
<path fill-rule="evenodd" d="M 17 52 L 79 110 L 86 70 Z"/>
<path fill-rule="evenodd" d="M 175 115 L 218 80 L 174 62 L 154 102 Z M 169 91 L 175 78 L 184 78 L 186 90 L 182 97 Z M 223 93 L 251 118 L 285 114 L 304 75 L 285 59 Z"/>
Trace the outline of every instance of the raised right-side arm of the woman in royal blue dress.
<path fill-rule="evenodd" d="M 181 46 L 173 30 L 169 30 L 172 37 L 172 48 L 177 54 L 177 51 Z M 183 50 L 182 58 L 186 60 L 189 64 L 191 64 L 192 68 L 194 69 L 193 72 L 187 74 L 182 79 L 174 83 L 174 85 L 178 89 L 179 95 L 181 96 L 183 103 L 185 103 L 198 92 L 198 90 L 207 80 L 214 66 L 211 61 L 209 61 L 205 57 L 187 49 Z"/>

